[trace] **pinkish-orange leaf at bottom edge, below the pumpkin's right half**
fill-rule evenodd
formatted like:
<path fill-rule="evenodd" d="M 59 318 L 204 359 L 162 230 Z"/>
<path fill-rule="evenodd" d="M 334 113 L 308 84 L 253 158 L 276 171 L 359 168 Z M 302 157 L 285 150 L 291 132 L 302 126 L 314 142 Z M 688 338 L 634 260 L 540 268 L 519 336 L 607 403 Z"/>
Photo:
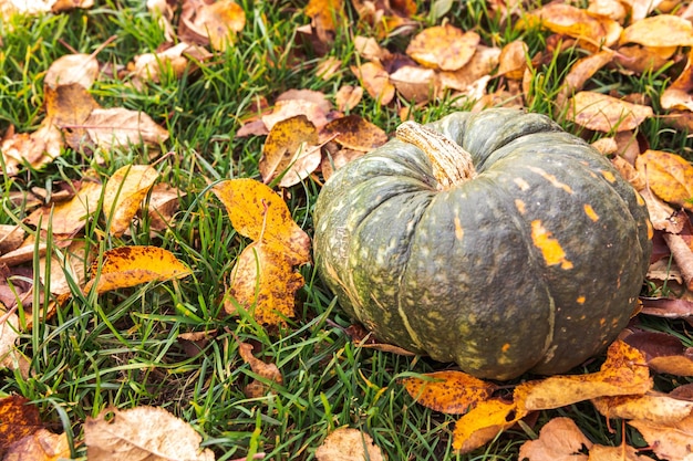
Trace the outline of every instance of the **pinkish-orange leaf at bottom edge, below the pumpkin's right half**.
<path fill-rule="evenodd" d="M 554 418 L 544 425 L 537 440 L 523 443 L 518 458 L 529 461 L 588 461 L 582 451 L 591 450 L 592 446 L 572 419 Z"/>

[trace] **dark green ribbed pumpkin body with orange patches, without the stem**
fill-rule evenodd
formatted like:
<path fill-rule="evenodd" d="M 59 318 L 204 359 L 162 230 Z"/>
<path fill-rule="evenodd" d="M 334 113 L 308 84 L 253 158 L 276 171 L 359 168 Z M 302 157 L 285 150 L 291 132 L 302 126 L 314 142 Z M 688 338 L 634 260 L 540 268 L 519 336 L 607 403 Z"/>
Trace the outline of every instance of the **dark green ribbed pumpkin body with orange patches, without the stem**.
<path fill-rule="evenodd" d="M 651 252 L 644 202 L 549 118 L 427 125 L 478 176 L 445 191 L 397 139 L 337 171 L 314 210 L 320 276 L 377 338 L 480 378 L 563 373 L 627 325 Z"/>

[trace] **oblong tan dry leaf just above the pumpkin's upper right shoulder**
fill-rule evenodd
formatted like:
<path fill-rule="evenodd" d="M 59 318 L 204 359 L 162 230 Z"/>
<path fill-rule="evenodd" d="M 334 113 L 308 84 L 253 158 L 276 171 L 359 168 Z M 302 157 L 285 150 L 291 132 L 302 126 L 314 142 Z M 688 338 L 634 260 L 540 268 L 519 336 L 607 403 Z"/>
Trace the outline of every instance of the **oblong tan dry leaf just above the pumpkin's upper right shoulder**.
<path fill-rule="evenodd" d="M 579 92 L 568 104 L 566 117 L 594 132 L 634 129 L 653 115 L 652 107 L 594 92 Z"/>

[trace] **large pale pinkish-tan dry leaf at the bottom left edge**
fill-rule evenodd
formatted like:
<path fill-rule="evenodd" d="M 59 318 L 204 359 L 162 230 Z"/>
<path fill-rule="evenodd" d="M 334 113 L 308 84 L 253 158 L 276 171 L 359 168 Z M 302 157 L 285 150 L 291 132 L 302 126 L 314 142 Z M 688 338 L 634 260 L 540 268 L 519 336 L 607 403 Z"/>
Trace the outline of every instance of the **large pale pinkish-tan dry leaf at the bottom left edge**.
<path fill-rule="evenodd" d="M 163 408 L 110 408 L 84 422 L 90 461 L 214 461 L 203 438 L 187 422 Z"/>

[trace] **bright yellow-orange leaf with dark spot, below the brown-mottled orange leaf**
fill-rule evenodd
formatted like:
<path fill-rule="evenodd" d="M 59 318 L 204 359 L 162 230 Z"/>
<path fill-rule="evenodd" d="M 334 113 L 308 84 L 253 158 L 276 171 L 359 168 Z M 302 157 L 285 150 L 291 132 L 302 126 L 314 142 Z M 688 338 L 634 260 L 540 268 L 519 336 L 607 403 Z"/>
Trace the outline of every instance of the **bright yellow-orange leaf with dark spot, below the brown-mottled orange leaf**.
<path fill-rule="evenodd" d="M 525 415 L 515 404 L 501 400 L 482 402 L 455 423 L 453 448 L 461 453 L 476 450 L 509 429 Z"/>

